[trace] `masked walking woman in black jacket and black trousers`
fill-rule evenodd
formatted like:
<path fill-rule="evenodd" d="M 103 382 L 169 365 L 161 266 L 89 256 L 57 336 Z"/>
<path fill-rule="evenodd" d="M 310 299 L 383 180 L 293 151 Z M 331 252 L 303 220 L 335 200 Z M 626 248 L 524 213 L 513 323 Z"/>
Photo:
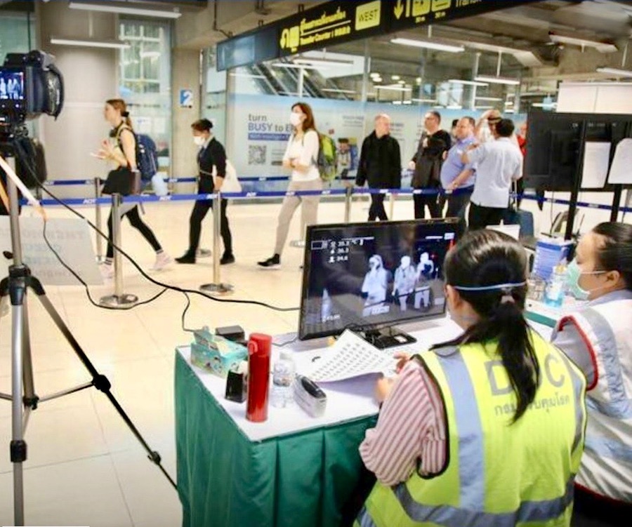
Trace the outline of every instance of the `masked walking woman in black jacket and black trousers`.
<path fill-rule="evenodd" d="M 198 194 L 220 192 L 226 176 L 226 152 L 222 144 L 211 133 L 212 128 L 213 123 L 209 119 L 199 119 L 191 125 L 193 142 L 198 148 Z M 213 167 L 216 169 L 214 177 Z M 176 262 L 180 264 L 195 264 L 199 236 L 202 232 L 202 220 L 204 220 L 209 209 L 213 208 L 213 202 L 213 199 L 202 199 L 195 202 L 189 218 L 189 248 L 180 258 L 176 258 Z M 232 234 L 230 234 L 230 225 L 228 225 L 228 216 L 226 215 L 227 206 L 228 199 L 221 198 L 220 232 L 224 243 L 224 253 L 220 258 L 220 265 L 228 265 L 235 262 L 235 255 L 232 253 Z"/>

